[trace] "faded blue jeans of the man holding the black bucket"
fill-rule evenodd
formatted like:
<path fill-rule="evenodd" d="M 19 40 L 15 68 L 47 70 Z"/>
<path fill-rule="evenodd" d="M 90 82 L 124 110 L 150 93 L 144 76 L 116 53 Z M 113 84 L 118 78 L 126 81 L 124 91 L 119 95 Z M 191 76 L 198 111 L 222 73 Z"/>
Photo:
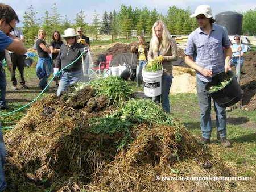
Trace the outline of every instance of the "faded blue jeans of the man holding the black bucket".
<path fill-rule="evenodd" d="M 197 97 L 199 99 L 200 106 L 200 127 L 202 131 L 202 136 L 205 139 L 210 139 L 212 132 L 212 119 L 210 117 L 211 110 L 211 98 L 207 90 L 205 90 L 205 85 L 207 82 L 196 79 L 197 81 Z M 216 112 L 216 126 L 220 137 L 226 137 L 226 108 L 220 107 L 218 103 L 214 101 L 214 110 Z"/>

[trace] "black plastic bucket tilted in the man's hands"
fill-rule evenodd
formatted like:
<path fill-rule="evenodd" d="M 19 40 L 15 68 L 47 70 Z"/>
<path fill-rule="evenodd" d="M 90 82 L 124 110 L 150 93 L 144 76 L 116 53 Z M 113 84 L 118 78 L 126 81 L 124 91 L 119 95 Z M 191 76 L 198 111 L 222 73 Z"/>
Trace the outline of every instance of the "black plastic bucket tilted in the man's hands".
<path fill-rule="evenodd" d="M 208 82 L 205 87 L 205 89 L 209 91 L 210 87 L 220 85 L 221 81 L 229 80 L 230 77 L 232 80 L 224 88 L 210 93 L 213 100 L 221 107 L 230 107 L 242 98 L 242 89 L 238 84 L 236 77 L 233 76 L 232 71 L 216 74 L 212 77 L 212 82 Z"/>

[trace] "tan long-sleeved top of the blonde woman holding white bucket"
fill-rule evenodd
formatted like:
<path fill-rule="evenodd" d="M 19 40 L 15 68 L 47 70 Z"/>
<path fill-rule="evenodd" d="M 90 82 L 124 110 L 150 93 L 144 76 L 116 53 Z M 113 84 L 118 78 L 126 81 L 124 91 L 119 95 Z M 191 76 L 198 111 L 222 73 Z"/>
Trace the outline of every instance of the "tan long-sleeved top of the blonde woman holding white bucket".
<path fill-rule="evenodd" d="M 172 74 L 172 61 L 177 61 L 177 44 L 174 39 L 171 38 L 170 45 L 168 45 L 166 50 L 158 50 L 154 52 L 152 50 L 151 41 L 150 49 L 148 51 L 148 61 L 153 60 L 155 57 L 162 55 L 164 57 L 163 61 L 163 74 Z"/>

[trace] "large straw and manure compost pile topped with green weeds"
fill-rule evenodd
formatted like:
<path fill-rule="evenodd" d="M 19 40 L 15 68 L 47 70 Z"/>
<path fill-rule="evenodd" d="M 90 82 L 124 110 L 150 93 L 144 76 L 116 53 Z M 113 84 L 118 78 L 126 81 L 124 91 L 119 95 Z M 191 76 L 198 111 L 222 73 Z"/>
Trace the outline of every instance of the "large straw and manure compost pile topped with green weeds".
<path fill-rule="evenodd" d="M 52 95 L 34 103 L 6 133 L 5 141 L 11 165 L 6 175 L 18 187 L 28 185 L 28 180 L 30 185 L 54 191 L 224 191 L 234 187 L 224 181 L 156 180 L 156 176 L 231 173 L 159 105 L 133 99 L 119 77 L 77 84 L 59 98 Z"/>

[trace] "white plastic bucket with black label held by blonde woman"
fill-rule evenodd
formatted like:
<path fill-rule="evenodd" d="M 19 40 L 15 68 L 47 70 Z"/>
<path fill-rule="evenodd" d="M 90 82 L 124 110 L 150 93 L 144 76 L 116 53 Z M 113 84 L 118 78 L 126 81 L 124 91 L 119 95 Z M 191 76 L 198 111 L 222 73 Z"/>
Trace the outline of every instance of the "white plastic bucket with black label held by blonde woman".
<path fill-rule="evenodd" d="M 162 90 L 162 74 L 163 70 L 157 72 L 146 72 L 142 69 L 142 77 L 144 81 L 144 94 L 148 97 L 156 97 L 161 95 Z"/>

